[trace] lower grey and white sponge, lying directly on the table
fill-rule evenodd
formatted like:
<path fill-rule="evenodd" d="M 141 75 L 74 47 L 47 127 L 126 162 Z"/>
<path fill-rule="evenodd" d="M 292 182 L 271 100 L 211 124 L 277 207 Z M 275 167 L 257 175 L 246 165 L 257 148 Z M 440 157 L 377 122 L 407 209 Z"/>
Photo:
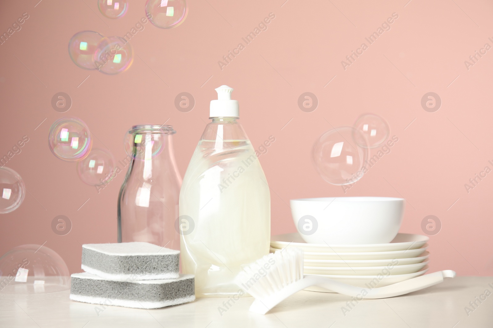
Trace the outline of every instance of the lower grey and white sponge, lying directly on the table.
<path fill-rule="evenodd" d="M 193 274 L 182 274 L 177 279 L 112 281 L 87 272 L 73 273 L 70 299 L 156 309 L 195 300 L 195 278 Z"/>

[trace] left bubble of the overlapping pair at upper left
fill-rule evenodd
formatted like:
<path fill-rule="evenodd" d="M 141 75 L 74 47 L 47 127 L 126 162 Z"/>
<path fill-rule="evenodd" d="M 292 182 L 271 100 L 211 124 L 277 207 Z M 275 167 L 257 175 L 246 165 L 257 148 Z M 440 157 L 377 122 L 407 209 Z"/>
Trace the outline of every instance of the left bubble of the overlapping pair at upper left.
<path fill-rule="evenodd" d="M 94 54 L 104 36 L 94 31 L 75 33 L 69 41 L 70 59 L 80 68 L 96 69 Z"/>

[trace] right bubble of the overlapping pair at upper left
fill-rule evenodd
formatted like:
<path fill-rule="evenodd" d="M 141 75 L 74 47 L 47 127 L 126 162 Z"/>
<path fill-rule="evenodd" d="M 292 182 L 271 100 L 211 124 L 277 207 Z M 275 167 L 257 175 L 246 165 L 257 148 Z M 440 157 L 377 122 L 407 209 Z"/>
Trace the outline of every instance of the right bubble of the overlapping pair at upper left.
<path fill-rule="evenodd" d="M 132 46 L 119 36 L 105 37 L 94 54 L 96 68 L 106 74 L 126 71 L 134 61 Z"/>

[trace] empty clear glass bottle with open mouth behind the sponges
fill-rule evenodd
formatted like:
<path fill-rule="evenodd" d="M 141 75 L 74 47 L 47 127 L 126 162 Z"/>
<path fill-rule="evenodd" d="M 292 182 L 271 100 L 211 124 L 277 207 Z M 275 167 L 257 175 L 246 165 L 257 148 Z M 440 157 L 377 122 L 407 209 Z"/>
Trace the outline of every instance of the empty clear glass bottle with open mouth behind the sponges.
<path fill-rule="evenodd" d="M 146 241 L 179 249 L 175 229 L 181 177 L 171 125 L 134 125 L 132 156 L 118 197 L 118 242 Z"/>

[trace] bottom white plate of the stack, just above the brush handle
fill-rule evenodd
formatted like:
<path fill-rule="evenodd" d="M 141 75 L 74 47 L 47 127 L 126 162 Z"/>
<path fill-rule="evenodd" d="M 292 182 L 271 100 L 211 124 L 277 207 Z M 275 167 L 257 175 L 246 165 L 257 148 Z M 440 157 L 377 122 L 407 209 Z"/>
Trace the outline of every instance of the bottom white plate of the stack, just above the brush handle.
<path fill-rule="evenodd" d="M 361 287 L 361 288 L 370 288 L 373 289 L 375 287 L 384 287 L 388 285 L 392 285 L 401 281 L 409 280 L 415 277 L 419 277 L 420 275 L 423 275 L 428 271 L 428 267 L 424 267 L 423 270 L 415 272 L 415 273 L 408 273 L 408 274 L 393 274 L 393 275 L 387 275 L 387 276 L 376 276 L 376 275 L 330 275 L 330 274 L 317 274 L 323 277 L 331 278 L 334 279 L 335 281 L 343 282 L 345 284 L 349 284 L 352 286 L 356 287 Z M 334 293 L 330 290 L 327 290 L 325 288 L 320 288 L 320 287 L 308 287 L 305 288 L 306 291 L 313 291 L 313 292 L 324 292 L 324 293 Z"/>

